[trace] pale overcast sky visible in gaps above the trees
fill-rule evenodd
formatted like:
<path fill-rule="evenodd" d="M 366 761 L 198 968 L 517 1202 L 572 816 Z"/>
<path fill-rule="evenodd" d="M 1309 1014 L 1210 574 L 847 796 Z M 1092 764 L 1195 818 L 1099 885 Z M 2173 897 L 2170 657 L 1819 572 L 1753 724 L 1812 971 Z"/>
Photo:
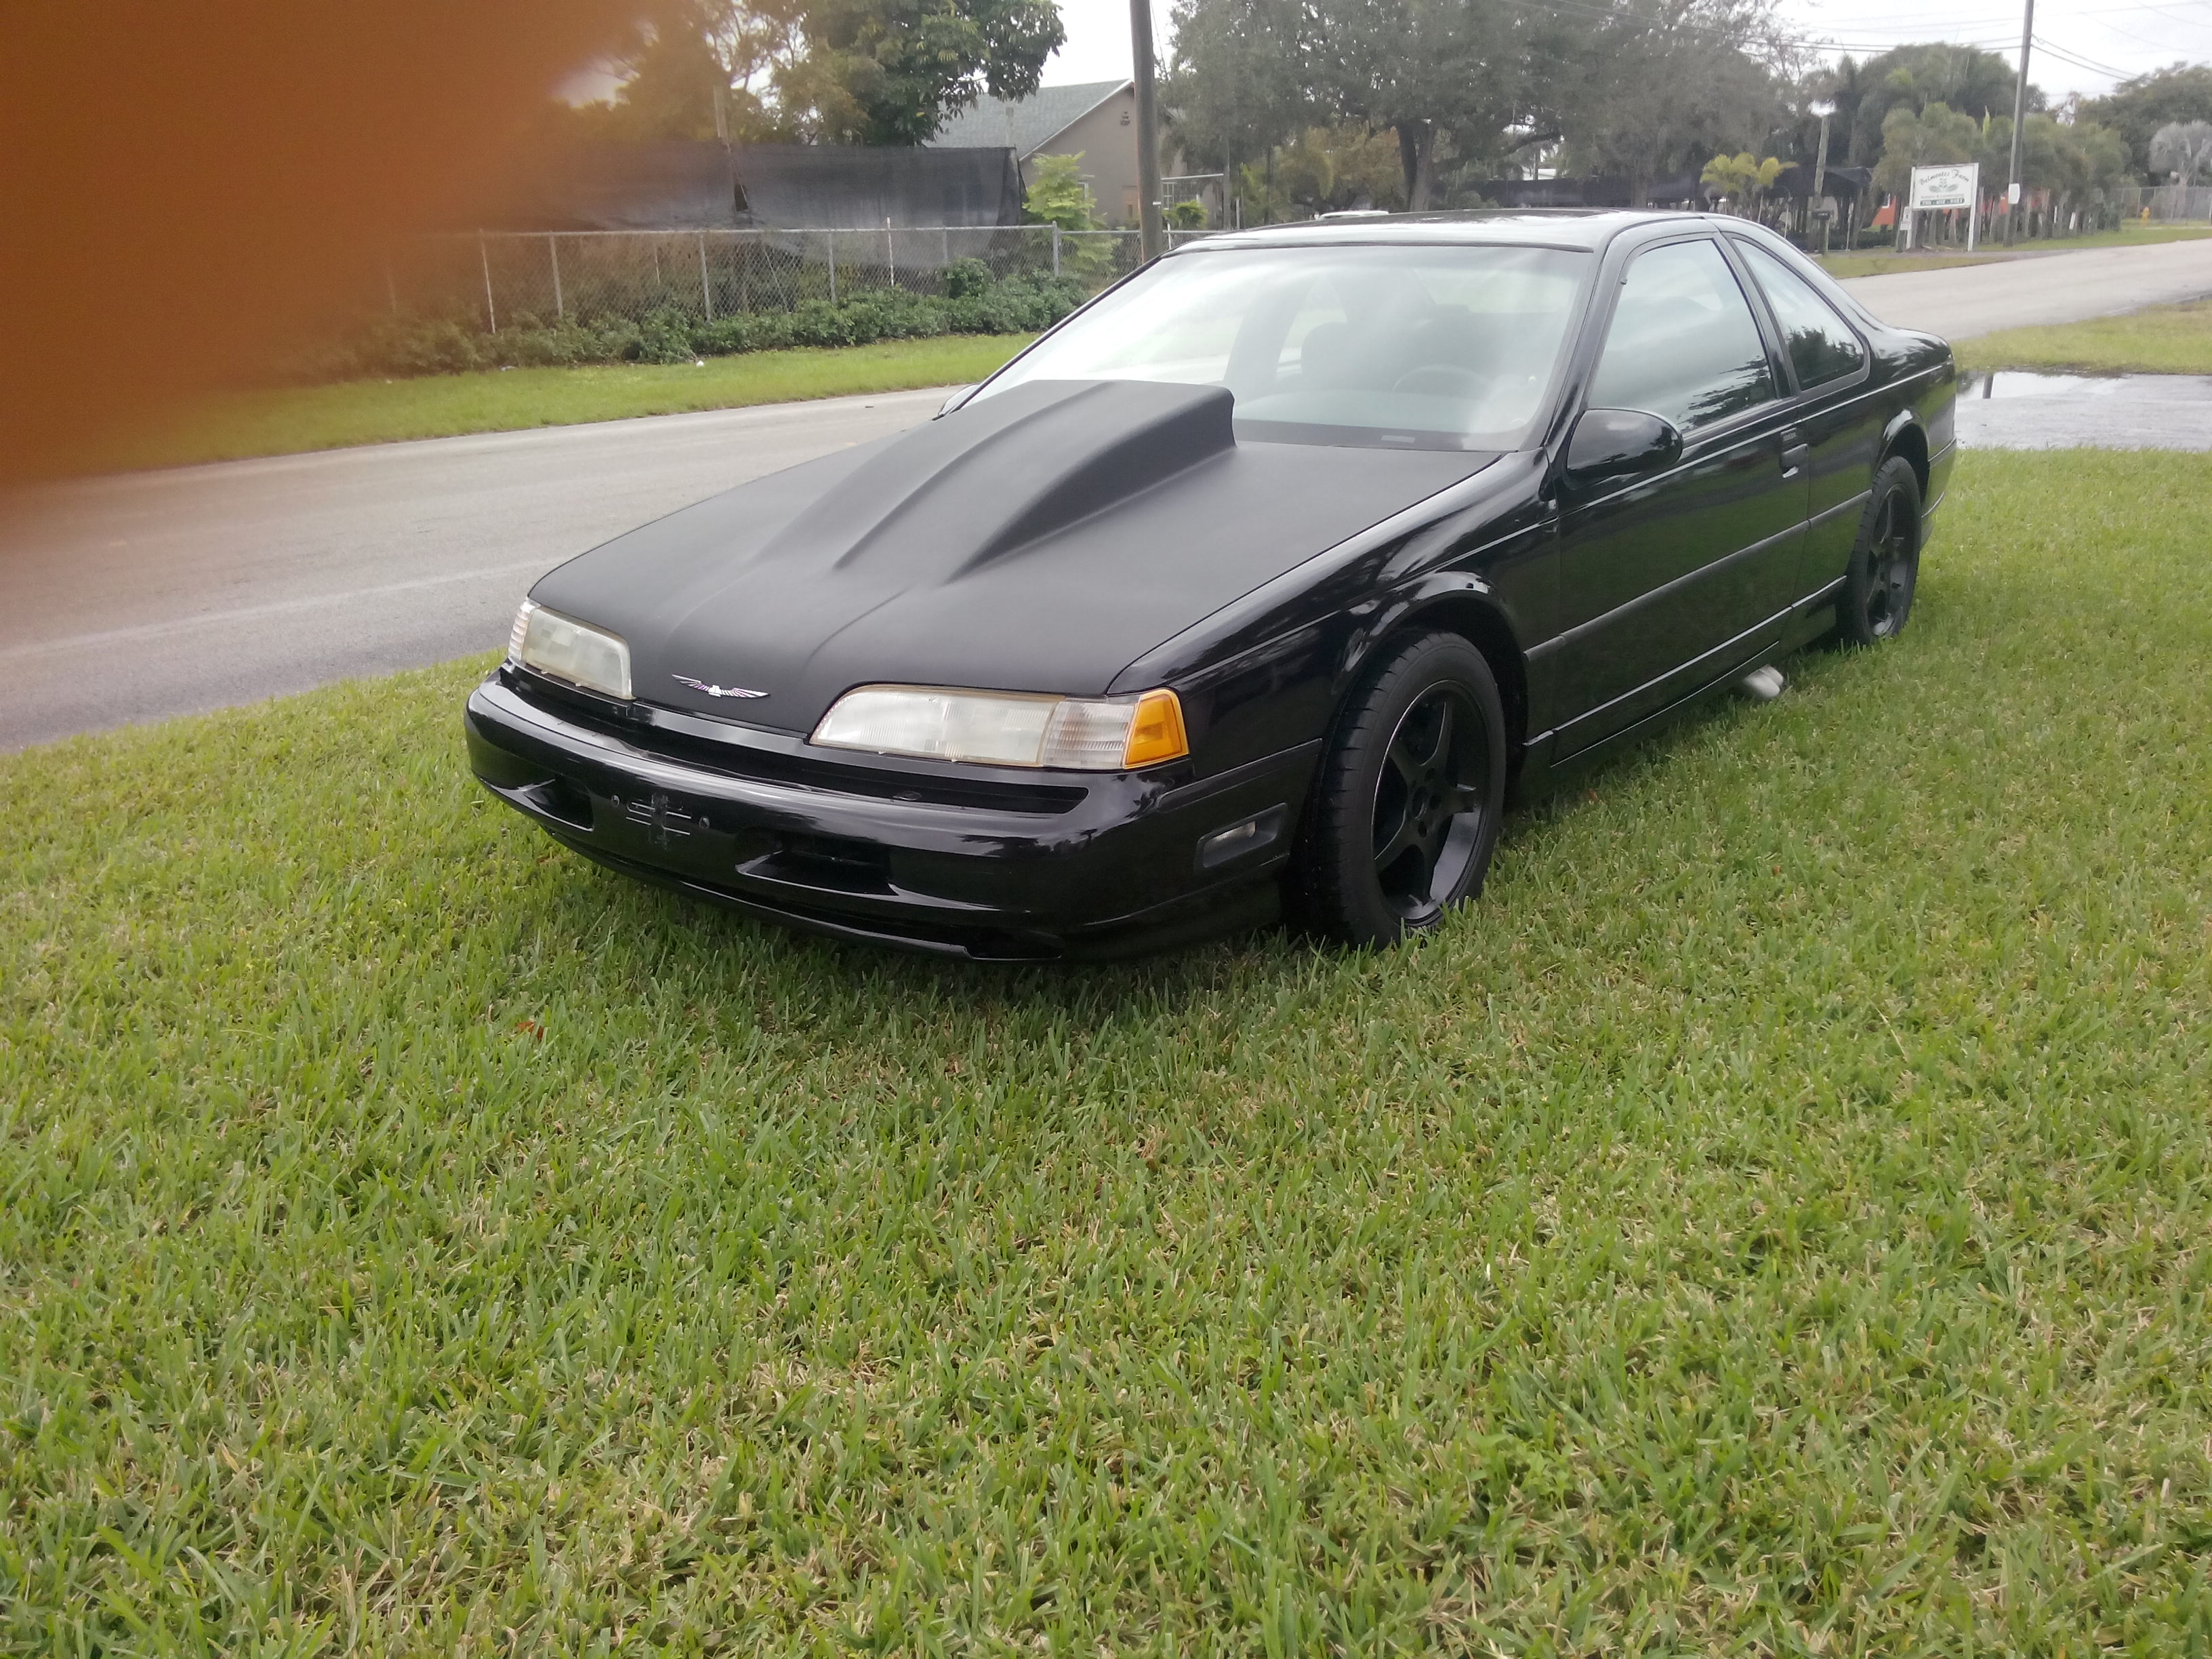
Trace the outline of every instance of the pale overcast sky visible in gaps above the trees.
<path fill-rule="evenodd" d="M 1168 11 L 1168 0 L 1152 7 L 1161 62 L 1172 38 Z M 1832 58 L 1838 51 L 1871 58 L 1905 40 L 1958 40 L 2020 55 L 2020 7 L 2006 11 L 2004 0 L 1927 0 L 1920 7 L 1905 0 L 1781 0 L 1781 15 L 1790 33 L 1829 46 Z M 1068 27 L 1068 44 L 1044 66 L 1046 84 L 1128 75 L 1128 0 L 1060 0 L 1060 18 Z M 2053 97 L 2095 95 L 2177 58 L 2212 60 L 2212 0 L 2035 0 L 2035 38 L 2031 82 Z"/>

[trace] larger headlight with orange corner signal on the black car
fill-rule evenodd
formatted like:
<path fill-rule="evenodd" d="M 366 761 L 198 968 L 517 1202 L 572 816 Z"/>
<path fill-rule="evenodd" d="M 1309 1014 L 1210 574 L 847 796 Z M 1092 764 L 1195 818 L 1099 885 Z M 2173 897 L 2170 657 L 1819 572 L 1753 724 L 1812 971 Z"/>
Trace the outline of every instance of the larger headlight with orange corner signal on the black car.
<path fill-rule="evenodd" d="M 1183 706 L 1141 697 L 1029 697 L 938 686 L 860 686 L 836 699 L 814 741 L 927 761 L 1130 772 L 1190 754 Z"/>

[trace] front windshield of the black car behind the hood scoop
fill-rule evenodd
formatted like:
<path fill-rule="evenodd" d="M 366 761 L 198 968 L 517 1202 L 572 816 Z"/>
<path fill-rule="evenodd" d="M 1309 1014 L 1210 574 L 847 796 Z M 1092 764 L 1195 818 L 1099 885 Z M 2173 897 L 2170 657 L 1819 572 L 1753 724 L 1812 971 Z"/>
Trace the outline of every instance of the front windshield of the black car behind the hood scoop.
<path fill-rule="evenodd" d="M 1586 265 L 1557 248 L 1192 248 L 978 396 L 1024 380 L 1225 385 L 1248 438 L 1520 449 Z"/>

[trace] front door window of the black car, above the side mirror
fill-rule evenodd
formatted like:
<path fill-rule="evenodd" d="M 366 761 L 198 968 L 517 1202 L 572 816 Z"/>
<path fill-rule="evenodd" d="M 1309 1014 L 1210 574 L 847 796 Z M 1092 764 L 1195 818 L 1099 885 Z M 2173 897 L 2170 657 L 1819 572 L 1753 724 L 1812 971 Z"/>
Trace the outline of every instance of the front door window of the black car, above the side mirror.
<path fill-rule="evenodd" d="M 1719 246 L 1674 241 L 1637 254 L 1613 307 L 1590 405 L 1648 409 L 1694 431 L 1774 396 L 1765 338 Z"/>

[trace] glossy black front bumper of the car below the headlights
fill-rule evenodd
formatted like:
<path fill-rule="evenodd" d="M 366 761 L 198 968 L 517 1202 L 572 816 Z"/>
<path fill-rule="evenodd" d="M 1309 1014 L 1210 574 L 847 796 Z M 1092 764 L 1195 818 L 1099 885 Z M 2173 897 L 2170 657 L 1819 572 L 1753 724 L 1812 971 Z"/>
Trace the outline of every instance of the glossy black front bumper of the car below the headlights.
<path fill-rule="evenodd" d="M 816 933 L 980 960 L 1135 956 L 1270 920 L 1318 754 L 1212 779 L 827 759 L 509 668 L 469 695 L 465 726 L 484 787 L 586 858 Z M 1274 834 L 1201 867 L 1201 841 L 1254 816 Z"/>

